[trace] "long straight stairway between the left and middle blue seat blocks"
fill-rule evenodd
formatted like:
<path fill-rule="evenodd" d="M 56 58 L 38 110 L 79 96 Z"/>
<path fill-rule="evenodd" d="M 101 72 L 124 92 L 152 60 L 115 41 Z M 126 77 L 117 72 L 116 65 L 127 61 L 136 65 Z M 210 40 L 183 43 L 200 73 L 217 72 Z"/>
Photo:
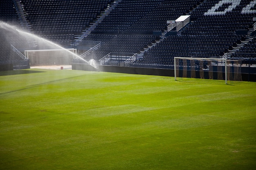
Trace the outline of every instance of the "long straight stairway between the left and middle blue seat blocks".
<path fill-rule="evenodd" d="M 115 7 L 117 7 L 117 5 L 119 4 L 119 2 L 121 2 L 122 0 L 115 0 L 114 2 L 112 2 L 111 4 L 108 4 L 108 7 L 101 12 L 101 14 L 99 16 L 97 16 L 96 21 L 90 23 L 89 27 L 84 30 L 82 32 L 81 35 L 75 35 L 75 39 L 74 39 L 74 46 L 79 45 L 79 43 L 86 38 L 88 35 L 90 35 L 90 33 L 96 28 L 96 26 L 101 23 L 103 21 L 103 19 L 108 16 L 108 14 L 115 9 Z"/>

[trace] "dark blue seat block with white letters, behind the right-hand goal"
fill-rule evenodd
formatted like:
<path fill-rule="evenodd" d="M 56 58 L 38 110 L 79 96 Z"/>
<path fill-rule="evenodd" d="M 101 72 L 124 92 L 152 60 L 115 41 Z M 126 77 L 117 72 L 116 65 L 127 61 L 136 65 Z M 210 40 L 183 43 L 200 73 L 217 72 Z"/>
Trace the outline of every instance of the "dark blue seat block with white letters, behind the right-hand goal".
<path fill-rule="evenodd" d="M 244 14 L 242 9 L 250 1 L 236 6 L 232 11 L 223 14 L 205 15 L 209 9 L 219 1 L 204 1 L 199 7 L 190 12 L 194 20 L 182 31 L 181 36 L 166 38 L 155 48 L 144 55 L 144 60 L 137 63 L 160 64 L 161 60 L 173 64 L 173 57 L 220 57 L 238 42 L 245 39 L 245 35 L 236 35 L 236 30 L 249 29 L 253 24 L 255 13 Z M 238 2 L 238 1 L 237 1 Z M 230 4 L 224 3 L 217 11 L 223 11 Z M 160 61 L 157 61 L 157 60 Z"/>

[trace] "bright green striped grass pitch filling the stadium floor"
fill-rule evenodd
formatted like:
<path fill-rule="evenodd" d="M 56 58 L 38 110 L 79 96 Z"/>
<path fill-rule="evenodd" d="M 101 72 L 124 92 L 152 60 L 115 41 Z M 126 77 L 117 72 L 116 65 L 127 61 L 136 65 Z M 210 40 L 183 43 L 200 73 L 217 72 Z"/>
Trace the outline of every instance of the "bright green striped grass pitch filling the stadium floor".
<path fill-rule="evenodd" d="M 0 170 L 255 170 L 256 83 L 0 72 Z"/>

